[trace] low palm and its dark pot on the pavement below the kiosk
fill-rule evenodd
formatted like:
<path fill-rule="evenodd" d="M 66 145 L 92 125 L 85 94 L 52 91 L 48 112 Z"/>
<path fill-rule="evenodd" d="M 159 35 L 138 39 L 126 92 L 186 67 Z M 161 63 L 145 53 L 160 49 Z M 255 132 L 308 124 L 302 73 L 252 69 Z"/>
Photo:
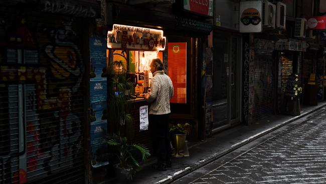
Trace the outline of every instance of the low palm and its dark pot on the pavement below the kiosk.
<path fill-rule="evenodd" d="M 119 182 L 129 182 L 136 168 L 140 167 L 135 154 L 140 154 L 141 160 L 145 161 L 149 156 L 148 148 L 143 144 L 130 144 L 126 137 L 117 134 L 107 136 L 104 140 L 109 146 L 115 147 L 115 155 L 119 163 L 114 165 L 116 178 Z"/>

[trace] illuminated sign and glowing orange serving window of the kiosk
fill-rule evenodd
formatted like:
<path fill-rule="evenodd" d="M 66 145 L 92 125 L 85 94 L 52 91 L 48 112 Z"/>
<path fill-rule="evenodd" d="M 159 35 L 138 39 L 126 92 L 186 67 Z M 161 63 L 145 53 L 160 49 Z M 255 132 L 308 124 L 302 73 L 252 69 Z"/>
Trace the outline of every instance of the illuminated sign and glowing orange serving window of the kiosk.
<path fill-rule="evenodd" d="M 146 92 L 151 73 L 150 61 L 162 59 L 166 37 L 162 30 L 114 24 L 107 34 L 108 63 L 115 60 L 125 62 L 127 74 L 134 76 L 136 95 Z"/>

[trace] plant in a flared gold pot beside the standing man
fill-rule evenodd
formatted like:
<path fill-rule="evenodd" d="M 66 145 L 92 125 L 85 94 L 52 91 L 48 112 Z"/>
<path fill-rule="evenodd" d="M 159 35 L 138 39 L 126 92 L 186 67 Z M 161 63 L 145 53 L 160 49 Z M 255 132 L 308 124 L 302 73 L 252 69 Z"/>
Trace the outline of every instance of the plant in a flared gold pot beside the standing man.
<path fill-rule="evenodd" d="M 177 125 L 171 125 L 170 133 L 171 133 L 171 143 L 173 147 L 176 149 L 176 153 L 173 154 L 173 157 L 183 157 L 184 155 L 179 153 L 180 149 L 184 147 L 186 136 L 189 134 L 191 129 L 191 125 L 189 123 L 178 123 Z"/>

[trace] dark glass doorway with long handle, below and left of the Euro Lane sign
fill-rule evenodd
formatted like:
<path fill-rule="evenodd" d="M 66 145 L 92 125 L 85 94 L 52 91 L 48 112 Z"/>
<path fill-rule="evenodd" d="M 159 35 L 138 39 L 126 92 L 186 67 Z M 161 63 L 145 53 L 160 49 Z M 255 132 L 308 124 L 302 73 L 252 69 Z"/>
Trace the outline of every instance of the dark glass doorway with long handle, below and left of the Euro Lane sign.
<path fill-rule="evenodd" d="M 241 37 L 214 38 L 213 131 L 240 121 Z"/>

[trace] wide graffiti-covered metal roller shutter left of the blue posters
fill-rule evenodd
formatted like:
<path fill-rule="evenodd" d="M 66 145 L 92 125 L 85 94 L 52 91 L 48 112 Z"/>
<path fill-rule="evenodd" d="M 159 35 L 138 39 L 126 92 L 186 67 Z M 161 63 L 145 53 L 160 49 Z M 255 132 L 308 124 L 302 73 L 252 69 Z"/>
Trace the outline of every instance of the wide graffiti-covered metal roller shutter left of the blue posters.
<path fill-rule="evenodd" d="M 25 90 L 27 181 L 81 183 L 85 173 L 81 20 L 35 16 L 42 25 L 38 30 L 45 30 L 37 32 L 39 62 L 48 66 L 37 68 L 32 76 L 37 83 Z"/>

